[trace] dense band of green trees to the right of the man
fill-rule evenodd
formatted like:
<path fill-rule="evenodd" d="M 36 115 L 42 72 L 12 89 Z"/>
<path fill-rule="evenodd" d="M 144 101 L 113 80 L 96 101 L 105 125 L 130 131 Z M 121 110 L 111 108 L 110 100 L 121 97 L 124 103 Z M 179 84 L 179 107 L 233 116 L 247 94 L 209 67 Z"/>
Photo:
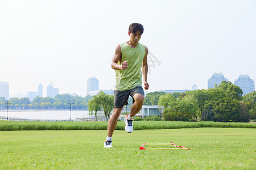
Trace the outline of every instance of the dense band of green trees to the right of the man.
<path fill-rule="evenodd" d="M 242 96 L 240 87 L 223 81 L 208 90 L 187 91 L 182 94 L 151 92 L 146 105 L 164 107 L 166 121 L 249 122 L 256 119 L 256 91 Z"/>

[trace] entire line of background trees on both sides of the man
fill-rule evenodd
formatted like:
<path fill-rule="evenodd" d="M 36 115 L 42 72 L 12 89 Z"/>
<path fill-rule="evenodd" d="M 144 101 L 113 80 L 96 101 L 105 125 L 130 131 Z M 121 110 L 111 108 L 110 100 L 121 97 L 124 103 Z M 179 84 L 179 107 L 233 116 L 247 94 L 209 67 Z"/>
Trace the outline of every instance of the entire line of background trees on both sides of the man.
<path fill-rule="evenodd" d="M 208 90 L 187 91 L 173 94 L 150 92 L 144 98 L 144 105 L 163 106 L 163 120 L 166 121 L 219 121 L 249 122 L 256 119 L 256 91 L 242 96 L 240 87 L 223 81 L 219 86 Z M 13 97 L 9 108 L 13 109 L 88 109 L 97 120 L 97 113 L 103 111 L 106 119 L 114 107 L 114 97 L 104 92 L 96 96 L 72 96 L 69 94 L 51 97 L 36 97 L 32 102 L 28 97 Z M 0 97 L 0 108 L 6 108 L 6 100 Z M 129 98 L 128 109 L 132 105 Z"/>

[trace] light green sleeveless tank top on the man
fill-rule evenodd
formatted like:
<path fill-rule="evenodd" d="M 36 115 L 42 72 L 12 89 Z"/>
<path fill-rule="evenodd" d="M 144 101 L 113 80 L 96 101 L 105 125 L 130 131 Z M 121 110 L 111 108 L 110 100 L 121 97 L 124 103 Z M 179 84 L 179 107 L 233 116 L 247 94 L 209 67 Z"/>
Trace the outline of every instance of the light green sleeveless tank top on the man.
<path fill-rule="evenodd" d="M 126 70 L 115 70 L 115 90 L 130 90 L 136 86 L 142 86 L 142 61 L 145 57 L 145 46 L 138 42 L 135 48 L 131 48 L 127 42 L 119 44 L 122 51 L 122 62 L 127 61 Z M 121 63 L 122 63 L 121 62 Z M 118 64 L 121 64 L 118 61 Z"/>

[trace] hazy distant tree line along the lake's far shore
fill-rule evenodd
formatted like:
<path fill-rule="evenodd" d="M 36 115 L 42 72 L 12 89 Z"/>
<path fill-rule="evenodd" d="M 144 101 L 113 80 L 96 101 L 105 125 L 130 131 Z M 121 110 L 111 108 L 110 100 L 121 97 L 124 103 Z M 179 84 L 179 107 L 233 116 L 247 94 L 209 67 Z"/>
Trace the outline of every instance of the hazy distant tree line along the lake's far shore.
<path fill-rule="evenodd" d="M 10 109 L 68 109 L 72 103 L 72 109 L 88 109 L 88 101 L 92 96 L 72 96 L 69 94 L 56 95 L 52 97 L 35 97 L 31 102 L 28 97 L 13 97 L 9 100 Z M 0 108 L 6 108 L 5 97 L 0 97 Z"/>

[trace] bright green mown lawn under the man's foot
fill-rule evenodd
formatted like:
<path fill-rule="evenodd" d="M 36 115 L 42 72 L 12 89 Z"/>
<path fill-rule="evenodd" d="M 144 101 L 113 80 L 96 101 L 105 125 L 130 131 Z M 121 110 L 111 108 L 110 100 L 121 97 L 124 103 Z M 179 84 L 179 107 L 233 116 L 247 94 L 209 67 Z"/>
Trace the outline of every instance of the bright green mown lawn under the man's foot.
<path fill-rule="evenodd" d="M 0 131 L 0 169 L 255 169 L 256 129 Z M 139 150 L 144 142 L 191 150 Z"/>

